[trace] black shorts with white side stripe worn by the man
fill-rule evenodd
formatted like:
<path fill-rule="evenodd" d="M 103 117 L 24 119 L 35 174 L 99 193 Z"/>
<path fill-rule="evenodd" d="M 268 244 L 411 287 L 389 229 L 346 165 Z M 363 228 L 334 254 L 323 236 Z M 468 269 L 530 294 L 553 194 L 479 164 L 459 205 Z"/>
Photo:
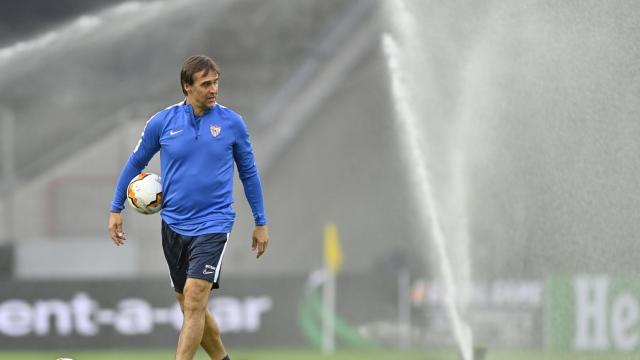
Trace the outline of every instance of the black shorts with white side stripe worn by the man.
<path fill-rule="evenodd" d="M 228 239 L 227 233 L 181 235 L 162 222 L 162 248 L 171 285 L 177 293 L 182 294 L 188 277 L 207 280 L 212 283 L 212 289 L 220 287 L 222 257 Z"/>

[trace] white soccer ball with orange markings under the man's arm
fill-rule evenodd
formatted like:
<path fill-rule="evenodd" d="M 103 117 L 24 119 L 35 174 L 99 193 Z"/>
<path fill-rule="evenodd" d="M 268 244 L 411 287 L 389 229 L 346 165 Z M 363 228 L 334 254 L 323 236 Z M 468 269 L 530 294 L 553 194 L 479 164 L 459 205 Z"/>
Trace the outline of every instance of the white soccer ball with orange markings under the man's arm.
<path fill-rule="evenodd" d="M 162 182 L 154 173 L 136 175 L 127 187 L 127 199 L 131 207 L 145 215 L 155 214 L 162 208 Z"/>

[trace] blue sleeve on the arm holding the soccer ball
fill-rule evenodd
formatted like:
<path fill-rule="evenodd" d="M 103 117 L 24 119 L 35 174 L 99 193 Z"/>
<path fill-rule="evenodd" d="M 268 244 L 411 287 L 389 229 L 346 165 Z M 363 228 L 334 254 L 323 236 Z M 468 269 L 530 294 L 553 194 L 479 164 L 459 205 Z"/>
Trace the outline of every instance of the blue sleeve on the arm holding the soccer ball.
<path fill-rule="evenodd" d="M 120 171 L 118 182 L 111 201 L 111 211 L 120 212 L 124 209 L 124 201 L 127 197 L 127 187 L 134 176 L 138 175 L 147 166 L 153 155 L 160 150 L 160 134 L 162 121 L 158 114 L 147 121 L 140 134 L 140 140 L 136 145 L 129 160 Z"/>

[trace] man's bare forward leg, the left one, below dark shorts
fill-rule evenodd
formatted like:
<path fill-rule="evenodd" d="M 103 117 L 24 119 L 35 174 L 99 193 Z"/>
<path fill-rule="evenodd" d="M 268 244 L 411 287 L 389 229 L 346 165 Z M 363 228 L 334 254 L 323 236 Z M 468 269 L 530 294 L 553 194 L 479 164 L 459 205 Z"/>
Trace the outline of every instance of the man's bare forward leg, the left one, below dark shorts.
<path fill-rule="evenodd" d="M 202 342 L 210 291 L 210 282 L 201 279 L 187 279 L 183 291 L 184 320 L 178 339 L 176 360 L 192 360 L 198 350 L 198 345 Z"/>

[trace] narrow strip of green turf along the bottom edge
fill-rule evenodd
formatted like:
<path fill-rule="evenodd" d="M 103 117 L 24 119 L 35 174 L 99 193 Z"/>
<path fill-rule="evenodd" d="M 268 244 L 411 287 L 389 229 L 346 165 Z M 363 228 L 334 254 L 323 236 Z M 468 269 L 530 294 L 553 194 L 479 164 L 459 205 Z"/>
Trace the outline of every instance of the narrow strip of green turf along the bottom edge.
<path fill-rule="evenodd" d="M 74 360 L 160 360 L 173 359 L 173 351 L 40 351 L 40 352 L 0 352 L 4 360 L 55 360 L 58 357 Z M 303 350 L 260 350 L 231 352 L 233 360 L 459 360 L 453 352 L 356 352 L 340 351 L 332 356 L 324 356 L 314 351 Z M 640 355 L 606 354 L 548 354 L 536 352 L 491 352 L 485 360 L 632 360 Z M 196 360 L 206 360 L 204 353 L 198 353 Z"/>

